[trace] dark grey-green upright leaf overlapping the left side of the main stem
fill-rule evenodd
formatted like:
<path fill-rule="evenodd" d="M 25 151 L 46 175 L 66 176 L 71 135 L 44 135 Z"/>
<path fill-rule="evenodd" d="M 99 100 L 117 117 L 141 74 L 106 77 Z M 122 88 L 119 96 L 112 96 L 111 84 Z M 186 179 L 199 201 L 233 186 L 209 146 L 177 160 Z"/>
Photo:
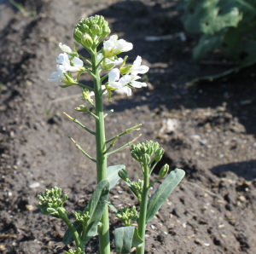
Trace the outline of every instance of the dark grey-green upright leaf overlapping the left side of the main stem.
<path fill-rule="evenodd" d="M 102 213 L 105 209 L 105 206 L 108 202 L 108 193 L 109 193 L 109 182 L 108 180 L 102 180 L 96 186 L 94 193 L 90 198 L 89 204 L 85 207 L 84 211 L 89 211 L 90 219 L 86 225 L 82 225 L 81 222 L 74 222 L 74 227 L 78 230 L 80 237 L 82 237 L 82 231 L 84 231 L 84 242 L 90 240 L 91 237 L 97 234 L 97 225 L 102 218 Z M 63 242 L 68 245 L 73 241 L 72 232 L 67 229 L 66 234 L 64 235 Z"/>

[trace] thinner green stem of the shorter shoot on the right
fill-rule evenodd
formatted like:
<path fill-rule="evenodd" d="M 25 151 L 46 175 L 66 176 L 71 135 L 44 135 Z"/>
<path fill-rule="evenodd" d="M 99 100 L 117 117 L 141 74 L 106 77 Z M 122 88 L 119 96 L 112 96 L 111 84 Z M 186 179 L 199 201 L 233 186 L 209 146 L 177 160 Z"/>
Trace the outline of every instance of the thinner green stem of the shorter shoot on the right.
<path fill-rule="evenodd" d="M 144 241 L 142 245 L 137 247 L 137 254 L 143 254 L 145 249 L 145 230 L 146 230 L 146 216 L 148 205 L 148 189 L 149 189 L 149 173 L 148 167 L 144 169 L 144 183 L 142 201 L 140 204 L 140 217 L 138 222 L 138 235 Z"/>

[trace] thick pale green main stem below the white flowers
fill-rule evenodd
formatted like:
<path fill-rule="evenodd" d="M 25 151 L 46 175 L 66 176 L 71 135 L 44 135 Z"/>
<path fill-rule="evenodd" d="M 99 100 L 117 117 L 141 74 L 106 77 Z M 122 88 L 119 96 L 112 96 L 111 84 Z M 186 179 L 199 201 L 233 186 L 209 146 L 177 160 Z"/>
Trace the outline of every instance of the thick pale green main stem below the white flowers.
<path fill-rule="evenodd" d="M 94 78 L 94 92 L 96 101 L 96 165 L 97 165 L 97 182 L 101 182 L 107 178 L 107 155 L 103 152 L 106 150 L 104 112 L 102 100 L 102 83 L 99 70 L 96 63 L 96 49 L 91 54 L 92 72 Z M 100 253 L 110 254 L 109 241 L 109 220 L 108 220 L 108 205 L 102 215 L 102 226 L 99 227 Z"/>

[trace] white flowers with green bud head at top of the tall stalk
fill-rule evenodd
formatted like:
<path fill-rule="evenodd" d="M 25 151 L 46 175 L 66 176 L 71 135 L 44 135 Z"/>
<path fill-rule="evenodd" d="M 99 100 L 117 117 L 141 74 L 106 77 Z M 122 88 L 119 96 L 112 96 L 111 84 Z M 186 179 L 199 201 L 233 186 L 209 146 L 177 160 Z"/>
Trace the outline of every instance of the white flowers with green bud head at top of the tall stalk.
<path fill-rule="evenodd" d="M 76 26 L 74 38 L 81 43 L 91 54 L 95 52 L 98 43 L 103 42 L 102 49 L 97 52 L 96 64 L 100 71 L 107 72 L 108 81 L 102 84 L 102 90 L 110 99 L 112 91 L 121 94 L 131 95 L 131 89 L 146 87 L 147 84 L 138 81 L 141 77 L 139 74 L 148 72 L 148 66 L 142 65 L 141 56 L 137 56 L 132 65 L 125 65 L 125 58 L 118 57 L 120 53 L 128 52 L 133 49 L 132 43 L 119 39 L 117 35 L 112 35 L 108 40 L 103 41 L 103 37 L 108 36 L 110 32 L 108 22 L 100 16 L 90 19 L 82 19 Z M 103 28 L 101 28 L 103 27 Z M 90 39 L 89 39 L 90 38 Z M 90 40 L 90 42 L 89 42 Z M 51 73 L 50 82 L 59 82 L 62 87 L 75 84 L 80 74 L 84 71 L 91 73 L 91 61 L 84 61 L 79 58 L 77 51 L 73 52 L 67 45 L 60 43 L 59 47 L 63 51 L 57 57 L 57 71 Z M 72 72 L 78 72 L 77 78 L 73 79 Z M 90 94 L 93 95 L 93 92 Z"/>

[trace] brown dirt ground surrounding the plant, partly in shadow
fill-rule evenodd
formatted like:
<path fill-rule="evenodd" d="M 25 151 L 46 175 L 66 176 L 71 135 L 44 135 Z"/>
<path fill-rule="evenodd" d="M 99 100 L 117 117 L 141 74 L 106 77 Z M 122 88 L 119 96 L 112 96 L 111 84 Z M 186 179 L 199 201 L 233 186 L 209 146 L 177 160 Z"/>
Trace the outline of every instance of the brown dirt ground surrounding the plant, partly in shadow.
<path fill-rule="evenodd" d="M 256 250 L 256 101 L 255 66 L 188 88 L 192 78 L 223 71 L 221 61 L 195 64 L 187 35 L 158 42 L 146 36 L 183 32 L 177 1 L 16 1 L 21 14 L 0 1 L 0 252 L 61 253 L 64 225 L 42 216 L 37 195 L 57 185 L 69 195 L 68 211 L 82 209 L 96 185 L 95 165 L 67 136 L 95 153 L 94 140 L 67 121 L 79 89 L 61 89 L 47 81 L 59 54 L 59 42 L 72 45 L 80 17 L 103 14 L 113 32 L 134 43 L 130 55 L 142 55 L 150 66 L 148 88 L 131 98 L 114 96 L 106 109 L 107 136 L 143 124 L 143 138 L 166 149 L 162 163 L 186 170 L 178 186 L 146 232 L 147 253 L 255 253 Z M 90 82 L 84 76 L 84 82 Z M 137 134 L 125 136 L 120 144 Z M 108 165 L 125 164 L 139 175 L 129 149 Z M 110 201 L 137 204 L 125 184 L 111 191 Z M 121 225 L 112 214 L 111 229 Z M 111 234 L 113 239 L 113 234 Z M 67 249 L 67 247 L 66 247 Z M 97 240 L 87 245 L 97 253 Z"/>

